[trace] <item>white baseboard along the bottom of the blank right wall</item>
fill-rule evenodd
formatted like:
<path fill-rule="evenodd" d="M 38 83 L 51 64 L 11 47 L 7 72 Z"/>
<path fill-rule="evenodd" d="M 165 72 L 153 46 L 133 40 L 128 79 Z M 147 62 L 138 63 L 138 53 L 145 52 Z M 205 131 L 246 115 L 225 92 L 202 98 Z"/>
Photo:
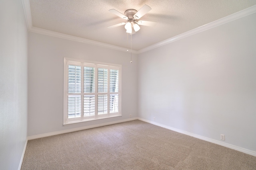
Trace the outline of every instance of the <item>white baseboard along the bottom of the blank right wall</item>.
<path fill-rule="evenodd" d="M 196 135 L 194 133 L 190 133 L 190 132 L 186 132 L 186 131 L 182 131 L 180 129 L 176 129 L 176 128 L 173 128 L 173 127 L 169 127 L 169 126 L 166 126 L 166 125 L 162 125 L 160 123 L 156 123 L 154 121 L 149 121 L 149 120 L 146 120 L 146 119 L 142 119 L 140 117 L 138 117 L 138 120 L 141 120 L 141 121 L 145 121 L 147 123 L 151 123 L 153 125 L 157 125 L 157 126 L 160 126 L 160 127 L 164 127 L 166 129 L 170 129 L 172 131 L 176 131 L 178 133 L 182 133 L 184 135 L 188 135 L 188 136 L 191 136 L 191 137 L 195 137 L 195 138 L 198 138 L 198 139 L 202 139 L 204 141 L 208 141 L 210 143 L 215 143 L 217 145 L 221 145 L 223 147 L 227 147 L 227 148 L 230 148 L 230 149 L 234 149 L 234 150 L 237 150 L 239 152 L 244 152 L 246 154 L 250 154 L 252 156 L 256 156 L 256 152 L 255 151 L 252 151 L 252 150 L 248 150 L 248 149 L 244 149 L 244 148 L 241 148 L 241 147 L 237 147 L 235 145 L 231 145 L 231 144 L 228 144 L 228 143 L 224 143 L 224 142 L 221 142 L 221 141 L 217 141 L 215 139 L 210 139 L 208 137 L 203 137 L 203 136 L 200 136 L 200 135 Z"/>

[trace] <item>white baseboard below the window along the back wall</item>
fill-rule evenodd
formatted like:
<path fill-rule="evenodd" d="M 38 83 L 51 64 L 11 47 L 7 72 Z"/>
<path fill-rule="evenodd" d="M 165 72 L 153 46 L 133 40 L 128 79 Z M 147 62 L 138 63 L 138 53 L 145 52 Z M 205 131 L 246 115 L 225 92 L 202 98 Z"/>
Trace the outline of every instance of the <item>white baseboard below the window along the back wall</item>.
<path fill-rule="evenodd" d="M 44 134 L 40 134 L 40 135 L 33 135 L 33 136 L 29 136 L 28 140 L 38 139 L 38 138 L 48 137 L 48 136 L 53 136 L 53 135 L 60 135 L 60 134 L 63 134 L 63 133 L 69 133 L 69 132 L 74 132 L 74 131 L 81 131 L 81 130 L 90 129 L 90 128 L 94 128 L 94 127 L 101 127 L 101 126 L 106 126 L 106 125 L 112 125 L 112 124 L 116 124 L 116 123 L 122 123 L 122 122 L 126 122 L 126 121 L 137 120 L 137 119 L 138 119 L 138 117 L 134 117 L 134 118 L 123 119 L 123 120 L 119 120 L 119 121 L 112 121 L 112 122 L 108 122 L 108 123 L 101 123 L 101 124 L 97 124 L 97 125 L 78 127 L 78 128 L 74 128 L 74 129 L 67 129 L 67 130 L 64 130 L 64 131 L 56 131 L 56 132 L 44 133 Z"/>

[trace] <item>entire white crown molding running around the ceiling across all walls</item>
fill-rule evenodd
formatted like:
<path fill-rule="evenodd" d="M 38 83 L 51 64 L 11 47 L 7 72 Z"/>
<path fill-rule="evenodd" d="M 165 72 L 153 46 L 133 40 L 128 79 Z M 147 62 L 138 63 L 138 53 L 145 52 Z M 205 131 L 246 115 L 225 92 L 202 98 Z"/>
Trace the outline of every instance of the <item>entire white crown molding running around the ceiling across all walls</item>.
<path fill-rule="evenodd" d="M 72 36 L 72 35 L 66 35 L 66 34 L 63 34 L 63 33 L 58 33 L 58 32 L 49 31 L 49 30 L 46 30 L 46 29 L 33 27 L 32 26 L 32 17 L 31 17 L 31 12 L 30 12 L 29 0 L 22 0 L 22 4 L 23 4 L 23 8 L 24 8 L 24 13 L 25 13 L 25 18 L 26 18 L 26 22 L 27 22 L 28 31 L 30 31 L 30 32 L 40 33 L 40 34 L 44 34 L 44 35 L 50 35 L 50 36 L 53 36 L 53 37 L 59 37 L 59 38 L 68 39 L 68 40 L 72 40 L 72 41 L 78 41 L 78 42 L 81 42 L 81 43 L 97 45 L 97 46 L 100 46 L 100 47 L 106 47 L 106 48 L 109 48 L 109 49 L 114 49 L 114 50 L 127 52 L 127 48 L 124 48 L 124 47 L 118 47 L 118 46 L 115 46 L 115 45 L 110 45 L 110 44 L 101 43 L 101 42 L 98 42 L 98 41 L 92 41 L 92 40 L 89 40 L 89 39 L 84 39 L 84 38 L 75 37 L 75 36 Z M 242 18 L 244 16 L 248 16 L 248 15 L 253 14 L 255 12 L 256 12 L 256 5 L 251 6 L 249 8 L 246 8 L 245 10 L 236 12 L 234 14 L 231 14 L 229 16 L 226 16 L 224 18 L 221 18 L 219 20 L 208 23 L 206 25 L 202 25 L 198 28 L 192 29 L 192 30 L 187 31 L 185 33 L 182 33 L 180 35 L 176 35 L 172 38 L 166 39 L 166 40 L 161 41 L 159 43 L 156 43 L 154 45 L 150 45 L 150 46 L 145 47 L 143 49 L 140 49 L 138 51 L 132 50 L 132 53 L 134 53 L 134 54 L 144 53 L 146 51 L 149 51 L 149 50 L 155 49 L 157 47 L 160 47 L 162 45 L 166 45 L 168 43 L 172 43 L 174 41 L 183 39 L 183 38 L 188 37 L 190 35 L 194 35 L 196 33 L 206 31 L 208 29 L 217 27 L 217 26 L 222 25 L 224 23 L 228 23 L 230 21 L 234 21 L 234 20 Z"/>

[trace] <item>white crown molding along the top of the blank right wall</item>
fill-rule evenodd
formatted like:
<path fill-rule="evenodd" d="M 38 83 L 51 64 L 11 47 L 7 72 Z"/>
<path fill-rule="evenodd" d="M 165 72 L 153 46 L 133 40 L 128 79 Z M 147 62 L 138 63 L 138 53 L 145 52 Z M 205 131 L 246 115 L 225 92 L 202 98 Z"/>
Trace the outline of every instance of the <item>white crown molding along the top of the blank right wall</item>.
<path fill-rule="evenodd" d="M 185 32 L 185 33 L 182 33 L 182 34 L 180 34 L 180 35 L 176 35 L 176 36 L 174 36 L 174 37 L 172 37 L 172 38 L 166 39 L 166 40 L 161 41 L 161 42 L 159 42 L 159 43 L 156 43 L 156 44 L 154 44 L 154 45 L 150 45 L 150 46 L 148 46 L 148 47 L 146 47 L 146 48 L 144 48 L 144 49 L 140 49 L 140 50 L 138 50 L 138 54 L 144 53 L 144 52 L 146 52 L 146 51 L 149 51 L 149 50 L 152 50 L 152 49 L 154 49 L 154 48 L 160 47 L 160 46 L 162 46 L 162 45 L 166 45 L 166 44 L 168 44 L 168 43 L 172 43 L 172 42 L 174 42 L 174 41 L 183 39 L 183 38 L 188 37 L 188 36 L 190 36 L 190 35 L 194 35 L 194 34 L 196 34 L 196 33 L 200 33 L 200 32 L 202 32 L 202 31 L 206 31 L 206 30 L 208 30 L 208 29 L 211 29 L 211 28 L 214 28 L 214 27 L 218 27 L 219 25 L 222 25 L 222 24 L 224 24 L 224 23 L 228 23 L 228 22 L 230 22 L 230 21 L 237 20 L 237 19 L 239 19 L 239 18 L 248 16 L 248 15 L 253 14 L 253 13 L 255 13 L 255 12 L 256 12 L 256 5 L 251 6 L 251 7 L 249 7 L 249 8 L 246 8 L 245 10 L 236 12 L 236 13 L 234 13 L 234 14 L 231 14 L 231 15 L 229 15 L 229 16 L 226 16 L 226 17 L 224 17 L 224 18 L 221 18 L 221 19 L 219 19 L 219 20 L 210 22 L 210 23 L 208 23 L 208 24 L 206 24 L 206 25 L 202 25 L 202 26 L 200 26 L 200 27 L 197 27 L 197 28 L 195 28 L 195 29 L 192 29 L 192 30 L 190 30 L 190 31 L 187 31 L 187 32 Z"/>

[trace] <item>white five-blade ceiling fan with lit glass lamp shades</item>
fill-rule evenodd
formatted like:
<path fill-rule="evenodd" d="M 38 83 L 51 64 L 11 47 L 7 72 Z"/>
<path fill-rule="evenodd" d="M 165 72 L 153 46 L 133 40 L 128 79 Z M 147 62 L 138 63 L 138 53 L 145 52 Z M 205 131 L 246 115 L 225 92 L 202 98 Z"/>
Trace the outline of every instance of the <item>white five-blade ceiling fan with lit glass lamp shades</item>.
<path fill-rule="evenodd" d="M 156 25 L 157 22 L 142 21 L 142 20 L 136 21 L 136 20 L 140 19 L 142 16 L 144 16 L 146 13 L 148 13 L 150 10 L 151 10 L 151 8 L 147 5 L 142 6 L 142 8 L 140 8 L 140 10 L 138 10 L 138 11 L 134 10 L 134 9 L 126 10 L 124 12 L 124 14 L 118 12 L 115 9 L 108 10 L 109 12 L 119 16 L 120 18 L 127 20 L 126 22 L 108 26 L 108 28 L 114 28 L 114 27 L 118 27 L 121 25 L 125 25 L 124 28 L 126 29 L 126 32 L 130 33 L 130 34 L 134 34 L 140 29 L 139 25 L 154 26 L 154 25 Z"/>

